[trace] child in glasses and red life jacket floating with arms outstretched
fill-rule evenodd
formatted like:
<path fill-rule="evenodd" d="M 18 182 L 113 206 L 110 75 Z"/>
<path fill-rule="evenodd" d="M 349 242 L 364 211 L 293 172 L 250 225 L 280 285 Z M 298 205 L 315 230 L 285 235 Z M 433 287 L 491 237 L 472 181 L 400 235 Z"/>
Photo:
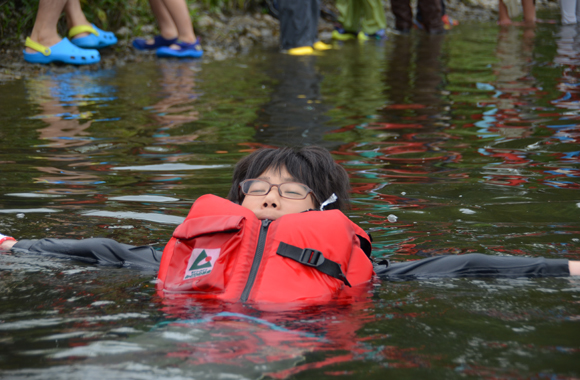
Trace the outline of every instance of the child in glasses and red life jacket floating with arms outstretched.
<path fill-rule="evenodd" d="M 385 279 L 580 275 L 578 261 L 483 254 L 373 263 L 370 237 L 341 212 L 349 207 L 348 192 L 346 171 L 323 148 L 260 149 L 236 165 L 228 200 L 206 195 L 194 203 L 163 254 L 110 239 L 0 237 L 0 248 L 159 268 L 159 288 L 167 294 L 228 301 L 324 299 L 373 273 Z"/>

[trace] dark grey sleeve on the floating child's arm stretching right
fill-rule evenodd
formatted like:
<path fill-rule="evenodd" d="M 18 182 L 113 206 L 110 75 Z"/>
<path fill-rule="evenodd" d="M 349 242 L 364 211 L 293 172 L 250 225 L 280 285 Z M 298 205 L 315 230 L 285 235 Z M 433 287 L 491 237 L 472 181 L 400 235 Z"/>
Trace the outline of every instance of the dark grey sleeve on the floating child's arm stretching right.
<path fill-rule="evenodd" d="M 481 253 L 436 256 L 417 261 L 375 265 L 387 280 L 441 277 L 553 277 L 569 276 L 568 260 L 543 257 L 490 256 Z"/>

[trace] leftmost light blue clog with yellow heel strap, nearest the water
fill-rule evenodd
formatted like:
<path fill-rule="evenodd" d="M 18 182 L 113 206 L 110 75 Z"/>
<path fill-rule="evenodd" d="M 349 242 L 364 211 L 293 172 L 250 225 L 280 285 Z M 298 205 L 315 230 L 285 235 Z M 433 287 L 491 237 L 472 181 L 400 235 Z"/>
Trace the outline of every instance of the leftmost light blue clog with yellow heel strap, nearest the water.
<path fill-rule="evenodd" d="M 38 52 L 27 53 L 26 50 L 23 51 L 24 60 L 30 63 L 64 62 L 71 65 L 90 65 L 101 60 L 98 51 L 76 47 L 68 38 L 63 38 L 59 43 L 47 47 L 32 41 L 30 37 L 26 37 L 24 46 Z"/>

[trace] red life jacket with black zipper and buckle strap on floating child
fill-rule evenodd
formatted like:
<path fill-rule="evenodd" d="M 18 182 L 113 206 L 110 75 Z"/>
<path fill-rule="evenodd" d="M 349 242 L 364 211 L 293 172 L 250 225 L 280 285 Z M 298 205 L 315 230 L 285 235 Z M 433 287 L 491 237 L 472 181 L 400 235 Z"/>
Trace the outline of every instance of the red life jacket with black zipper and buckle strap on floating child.
<path fill-rule="evenodd" d="M 368 235 L 338 210 L 259 220 L 214 195 L 200 197 L 165 246 L 158 289 L 226 301 L 324 300 L 368 282 Z M 305 249 L 308 248 L 308 249 Z"/>

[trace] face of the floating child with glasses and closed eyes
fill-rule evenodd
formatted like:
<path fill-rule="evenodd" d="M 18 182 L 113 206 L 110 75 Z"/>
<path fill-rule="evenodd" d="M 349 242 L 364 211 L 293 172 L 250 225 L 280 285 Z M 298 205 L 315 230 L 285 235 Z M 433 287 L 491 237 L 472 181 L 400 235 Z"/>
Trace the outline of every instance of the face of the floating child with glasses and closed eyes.
<path fill-rule="evenodd" d="M 268 181 L 272 185 L 279 185 L 284 182 L 297 182 L 286 171 L 286 168 L 281 168 L 280 171 L 268 169 L 258 179 Z M 246 195 L 242 206 L 253 211 L 258 219 L 276 220 L 286 214 L 314 209 L 314 201 L 312 199 L 312 193 L 308 194 L 305 199 L 282 198 L 278 193 L 278 188 L 272 187 L 266 195 Z"/>

